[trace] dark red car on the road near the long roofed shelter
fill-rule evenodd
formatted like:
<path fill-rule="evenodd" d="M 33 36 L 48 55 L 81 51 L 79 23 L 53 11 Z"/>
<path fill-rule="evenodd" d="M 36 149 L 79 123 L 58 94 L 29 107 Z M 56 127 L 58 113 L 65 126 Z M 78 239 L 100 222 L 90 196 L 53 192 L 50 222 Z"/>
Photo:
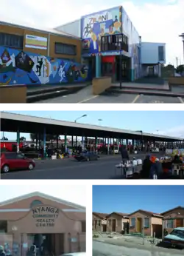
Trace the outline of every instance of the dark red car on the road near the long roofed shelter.
<path fill-rule="evenodd" d="M 35 168 L 35 161 L 26 158 L 22 153 L 0 152 L 0 170 L 9 172 L 12 169 L 29 169 Z"/>

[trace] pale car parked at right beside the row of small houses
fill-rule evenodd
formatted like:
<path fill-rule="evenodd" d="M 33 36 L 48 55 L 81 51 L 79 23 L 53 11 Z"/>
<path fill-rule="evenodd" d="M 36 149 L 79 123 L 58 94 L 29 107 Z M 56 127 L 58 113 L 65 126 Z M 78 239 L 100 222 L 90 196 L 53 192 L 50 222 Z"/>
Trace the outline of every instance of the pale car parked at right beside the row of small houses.
<path fill-rule="evenodd" d="M 169 235 L 163 238 L 163 243 L 167 247 L 179 247 L 184 249 L 184 227 L 173 229 Z"/>

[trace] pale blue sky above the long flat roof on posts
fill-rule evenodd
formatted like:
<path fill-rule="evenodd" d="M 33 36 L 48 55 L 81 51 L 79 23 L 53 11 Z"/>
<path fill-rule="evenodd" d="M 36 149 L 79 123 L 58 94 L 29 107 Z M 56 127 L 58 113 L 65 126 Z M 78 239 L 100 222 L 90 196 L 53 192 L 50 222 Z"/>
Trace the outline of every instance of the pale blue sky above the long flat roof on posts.
<path fill-rule="evenodd" d="M 35 115 L 44 118 L 60 119 L 63 121 L 75 121 L 82 115 L 85 118 L 78 123 L 93 124 L 104 127 L 115 127 L 128 130 L 142 130 L 143 132 L 155 133 L 157 135 L 170 135 L 184 138 L 184 110 L 63 110 L 63 109 L 35 109 L 34 110 L 6 110 L 8 112 Z M 1 114 L 1 112 L 0 112 Z M 98 121 L 101 119 L 102 121 Z M 10 140 L 16 139 L 15 133 L 5 132 L 4 136 Z M 29 141 L 29 134 L 21 133 Z M 0 132 L 2 138 L 2 131 Z M 63 138 L 63 136 L 61 136 Z"/>

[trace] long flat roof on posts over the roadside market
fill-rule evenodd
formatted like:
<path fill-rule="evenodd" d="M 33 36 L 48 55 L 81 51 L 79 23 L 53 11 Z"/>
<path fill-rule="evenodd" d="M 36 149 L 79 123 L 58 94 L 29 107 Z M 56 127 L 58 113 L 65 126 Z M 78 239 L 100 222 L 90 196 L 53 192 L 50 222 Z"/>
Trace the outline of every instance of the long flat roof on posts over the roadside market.
<path fill-rule="evenodd" d="M 61 110 L 61 116 L 62 116 Z M 56 120 L 52 118 L 42 118 L 31 115 L 20 115 L 11 112 L 0 112 L 0 127 L 4 132 L 43 133 L 46 127 L 46 133 L 53 135 L 76 135 L 99 138 L 137 138 L 155 139 L 155 141 L 183 141 L 183 138 L 170 137 L 166 135 L 155 135 L 141 131 L 131 131 L 127 129 L 118 129 L 115 127 L 102 127 L 92 124 L 80 124 L 69 121 Z"/>

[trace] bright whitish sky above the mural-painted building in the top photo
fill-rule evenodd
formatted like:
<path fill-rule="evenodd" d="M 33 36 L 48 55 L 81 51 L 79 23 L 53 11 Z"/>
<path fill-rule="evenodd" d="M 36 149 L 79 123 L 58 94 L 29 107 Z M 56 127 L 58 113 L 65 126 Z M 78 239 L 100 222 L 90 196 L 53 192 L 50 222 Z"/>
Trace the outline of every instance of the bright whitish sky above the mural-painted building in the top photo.
<path fill-rule="evenodd" d="M 42 29 L 58 27 L 81 16 L 122 5 L 142 41 L 165 42 L 166 61 L 183 61 L 183 0 L 1 0 L 1 21 Z"/>

